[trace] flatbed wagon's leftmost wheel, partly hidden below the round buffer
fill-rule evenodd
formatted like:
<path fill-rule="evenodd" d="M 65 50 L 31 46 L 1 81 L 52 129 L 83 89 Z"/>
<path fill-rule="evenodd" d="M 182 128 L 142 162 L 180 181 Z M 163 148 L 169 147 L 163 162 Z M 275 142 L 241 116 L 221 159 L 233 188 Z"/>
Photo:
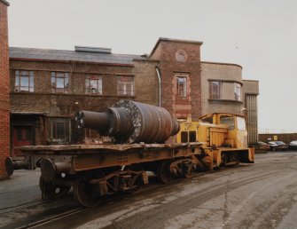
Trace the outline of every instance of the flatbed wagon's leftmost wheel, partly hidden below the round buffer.
<path fill-rule="evenodd" d="M 42 177 L 39 178 L 39 187 L 42 191 L 43 200 L 56 200 L 68 193 L 71 186 L 58 186 L 53 182 L 46 182 Z"/>

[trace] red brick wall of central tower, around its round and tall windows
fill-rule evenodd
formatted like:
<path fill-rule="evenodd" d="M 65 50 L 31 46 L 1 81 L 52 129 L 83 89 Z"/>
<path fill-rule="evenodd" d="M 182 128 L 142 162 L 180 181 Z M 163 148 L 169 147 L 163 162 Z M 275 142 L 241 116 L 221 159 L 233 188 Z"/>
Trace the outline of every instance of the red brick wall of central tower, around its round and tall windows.
<path fill-rule="evenodd" d="M 200 45 L 197 42 L 162 40 L 157 43 L 152 59 L 160 60 L 161 107 L 176 118 L 198 118 L 201 115 Z M 176 51 L 184 51 L 184 62 L 176 60 Z M 176 76 L 187 77 L 187 96 L 176 96 Z"/>

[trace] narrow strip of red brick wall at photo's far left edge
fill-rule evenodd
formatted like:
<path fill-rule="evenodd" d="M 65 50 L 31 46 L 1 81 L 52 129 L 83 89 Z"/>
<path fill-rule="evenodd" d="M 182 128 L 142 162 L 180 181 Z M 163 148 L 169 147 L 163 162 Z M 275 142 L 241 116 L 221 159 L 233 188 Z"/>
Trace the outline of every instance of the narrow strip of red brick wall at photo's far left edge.
<path fill-rule="evenodd" d="M 6 177 L 4 160 L 10 151 L 7 5 L 0 1 L 0 178 Z"/>

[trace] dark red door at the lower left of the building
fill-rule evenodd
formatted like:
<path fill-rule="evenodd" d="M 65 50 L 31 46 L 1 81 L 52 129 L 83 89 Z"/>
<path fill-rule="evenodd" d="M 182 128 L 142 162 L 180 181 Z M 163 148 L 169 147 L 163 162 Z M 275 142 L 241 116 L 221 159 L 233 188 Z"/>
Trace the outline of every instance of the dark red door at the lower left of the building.
<path fill-rule="evenodd" d="M 21 155 L 21 151 L 16 146 L 32 146 L 33 131 L 31 126 L 14 126 L 12 128 L 13 156 Z"/>

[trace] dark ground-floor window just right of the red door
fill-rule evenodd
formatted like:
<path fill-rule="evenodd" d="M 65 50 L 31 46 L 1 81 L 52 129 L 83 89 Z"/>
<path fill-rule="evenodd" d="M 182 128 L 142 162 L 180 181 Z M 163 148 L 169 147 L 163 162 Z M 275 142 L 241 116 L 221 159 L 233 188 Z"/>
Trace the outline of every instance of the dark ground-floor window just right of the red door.
<path fill-rule="evenodd" d="M 70 141 L 70 120 L 66 117 L 50 118 L 49 143 L 66 144 Z"/>

